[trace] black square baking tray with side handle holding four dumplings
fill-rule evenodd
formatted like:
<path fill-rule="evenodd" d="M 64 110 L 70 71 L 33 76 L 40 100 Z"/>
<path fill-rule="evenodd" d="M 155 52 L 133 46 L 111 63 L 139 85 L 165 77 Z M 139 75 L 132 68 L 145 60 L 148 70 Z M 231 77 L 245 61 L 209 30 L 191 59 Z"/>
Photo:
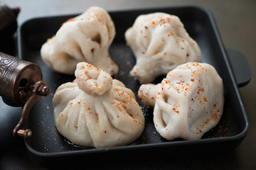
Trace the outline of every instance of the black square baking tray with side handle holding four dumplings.
<path fill-rule="evenodd" d="M 249 121 L 239 93 L 239 86 L 245 86 L 250 81 L 250 69 L 239 52 L 225 50 L 223 42 L 215 26 L 211 13 L 198 6 L 176 6 L 165 8 L 133 9 L 126 11 L 109 11 L 116 28 L 116 36 L 110 47 L 110 56 L 119 65 L 119 73 L 115 79 L 122 81 L 135 94 L 139 89 L 139 81 L 129 77 L 136 60 L 132 50 L 126 45 L 124 32 L 131 27 L 137 16 L 144 13 L 164 12 L 178 16 L 183 22 L 189 35 L 198 42 L 202 51 L 201 62 L 212 64 L 223 79 L 225 91 L 225 107 L 220 123 L 203 135 L 201 140 L 186 141 L 176 139 L 165 140 L 156 132 L 153 123 L 153 109 L 143 105 L 137 98 L 145 115 L 145 129 L 142 135 L 130 145 L 123 147 L 111 147 L 103 149 L 75 146 L 60 135 L 55 128 L 53 120 L 52 99 L 55 90 L 68 81 L 73 81 L 74 76 L 52 72 L 41 60 L 41 45 L 51 38 L 61 24 L 69 18 L 80 13 L 67 16 L 50 16 L 33 18 L 26 21 L 18 29 L 18 54 L 22 60 L 28 60 L 38 64 L 43 71 L 43 81 L 51 89 L 51 94 L 43 97 L 33 106 L 28 120 L 28 128 L 31 128 L 33 136 L 25 140 L 26 147 L 38 157 L 97 157 L 102 155 L 119 154 L 146 156 L 161 153 L 166 149 L 174 152 L 189 152 L 196 150 L 234 149 L 245 138 Z M 238 63 L 237 60 L 240 60 Z M 236 72 L 236 74 L 234 74 Z M 161 81 L 157 78 L 154 83 Z M 106 158 L 106 157 L 105 157 Z"/>

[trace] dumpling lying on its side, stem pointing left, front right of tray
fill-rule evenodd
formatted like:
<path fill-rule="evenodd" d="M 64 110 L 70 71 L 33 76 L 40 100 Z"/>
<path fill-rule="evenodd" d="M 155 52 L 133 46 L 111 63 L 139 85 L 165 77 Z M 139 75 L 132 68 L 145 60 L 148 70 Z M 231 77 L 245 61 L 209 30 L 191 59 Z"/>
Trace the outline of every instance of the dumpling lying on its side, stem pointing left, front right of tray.
<path fill-rule="evenodd" d="M 201 139 L 223 113 L 223 81 L 210 64 L 181 64 L 161 84 L 142 85 L 139 97 L 155 103 L 154 125 L 167 140 Z"/>

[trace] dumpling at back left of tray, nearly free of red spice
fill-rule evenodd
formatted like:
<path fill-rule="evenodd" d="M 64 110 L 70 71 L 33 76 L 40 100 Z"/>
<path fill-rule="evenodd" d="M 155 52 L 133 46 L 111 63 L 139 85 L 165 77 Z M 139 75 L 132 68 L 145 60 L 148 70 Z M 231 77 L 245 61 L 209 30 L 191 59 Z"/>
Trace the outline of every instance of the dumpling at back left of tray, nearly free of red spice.
<path fill-rule="evenodd" d="M 93 6 L 63 23 L 56 35 L 41 47 L 41 57 L 55 72 L 74 74 L 78 62 L 88 62 L 113 75 L 118 67 L 108 50 L 114 35 L 110 15 Z"/>

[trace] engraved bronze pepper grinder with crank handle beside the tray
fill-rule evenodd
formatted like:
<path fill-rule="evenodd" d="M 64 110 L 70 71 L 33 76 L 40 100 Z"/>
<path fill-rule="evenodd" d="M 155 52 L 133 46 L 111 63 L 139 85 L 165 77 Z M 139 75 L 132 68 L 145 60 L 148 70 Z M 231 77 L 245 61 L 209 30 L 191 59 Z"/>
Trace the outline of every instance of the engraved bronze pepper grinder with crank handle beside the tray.
<path fill-rule="evenodd" d="M 42 81 L 41 68 L 0 52 L 0 96 L 9 106 L 22 106 L 21 119 L 14 128 L 14 137 L 30 137 L 32 132 L 25 129 L 29 112 L 42 96 L 50 94 L 50 88 Z"/>

